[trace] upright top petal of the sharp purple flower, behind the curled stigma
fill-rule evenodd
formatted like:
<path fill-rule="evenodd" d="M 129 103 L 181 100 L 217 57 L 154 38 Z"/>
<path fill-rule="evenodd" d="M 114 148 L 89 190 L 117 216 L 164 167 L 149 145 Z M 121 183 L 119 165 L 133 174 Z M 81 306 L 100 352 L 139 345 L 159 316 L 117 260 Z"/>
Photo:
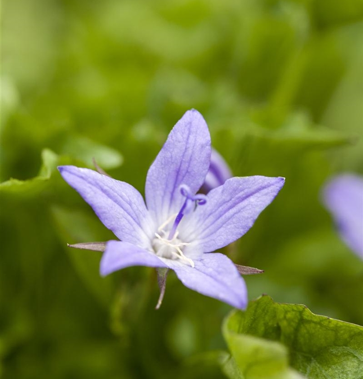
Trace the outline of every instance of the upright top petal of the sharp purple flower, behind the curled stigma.
<path fill-rule="evenodd" d="M 210 135 L 203 116 L 187 111 L 170 131 L 146 177 L 146 204 L 162 224 L 180 210 L 184 197 L 180 184 L 195 194 L 203 184 L 210 163 Z"/>

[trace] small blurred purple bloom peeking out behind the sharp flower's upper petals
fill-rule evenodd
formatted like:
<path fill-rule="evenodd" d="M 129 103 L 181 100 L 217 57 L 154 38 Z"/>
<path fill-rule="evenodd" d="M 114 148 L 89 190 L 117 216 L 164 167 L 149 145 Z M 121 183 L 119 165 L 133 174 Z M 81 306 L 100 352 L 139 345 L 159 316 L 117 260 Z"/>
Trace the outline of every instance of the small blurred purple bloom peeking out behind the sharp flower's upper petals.
<path fill-rule="evenodd" d="M 212 148 L 210 154 L 210 165 L 201 188 L 203 194 L 211 189 L 224 184 L 227 179 L 232 178 L 232 172 L 222 156 Z"/>

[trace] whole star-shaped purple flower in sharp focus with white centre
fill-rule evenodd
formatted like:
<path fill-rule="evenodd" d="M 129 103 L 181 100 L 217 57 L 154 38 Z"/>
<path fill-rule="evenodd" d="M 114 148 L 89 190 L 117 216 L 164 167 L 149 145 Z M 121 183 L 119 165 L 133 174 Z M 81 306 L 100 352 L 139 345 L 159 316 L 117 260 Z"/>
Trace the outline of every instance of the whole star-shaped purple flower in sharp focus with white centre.
<path fill-rule="evenodd" d="M 207 124 L 199 112 L 190 110 L 171 130 L 149 168 L 146 205 L 130 184 L 86 168 L 59 167 L 63 178 L 119 239 L 74 247 L 104 250 L 102 275 L 138 265 L 157 267 L 159 273 L 172 269 L 186 287 L 245 308 L 247 290 L 238 268 L 225 255 L 211 252 L 247 232 L 278 194 L 284 178 L 234 177 L 208 195 L 197 194 L 210 155 Z M 165 278 L 159 275 L 161 298 Z"/>

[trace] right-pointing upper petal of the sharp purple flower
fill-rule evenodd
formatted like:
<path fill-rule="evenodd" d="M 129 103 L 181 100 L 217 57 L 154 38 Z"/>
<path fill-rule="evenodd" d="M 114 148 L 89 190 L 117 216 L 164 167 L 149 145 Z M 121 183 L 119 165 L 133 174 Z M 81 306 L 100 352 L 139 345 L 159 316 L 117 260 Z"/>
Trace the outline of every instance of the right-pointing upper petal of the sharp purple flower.
<path fill-rule="evenodd" d="M 208 193 L 207 203 L 197 208 L 189 225 L 183 225 L 186 228 L 183 234 L 189 233 L 184 239 L 194 240 L 204 252 L 229 245 L 250 229 L 284 183 L 282 177 L 248 176 L 228 179 Z"/>

